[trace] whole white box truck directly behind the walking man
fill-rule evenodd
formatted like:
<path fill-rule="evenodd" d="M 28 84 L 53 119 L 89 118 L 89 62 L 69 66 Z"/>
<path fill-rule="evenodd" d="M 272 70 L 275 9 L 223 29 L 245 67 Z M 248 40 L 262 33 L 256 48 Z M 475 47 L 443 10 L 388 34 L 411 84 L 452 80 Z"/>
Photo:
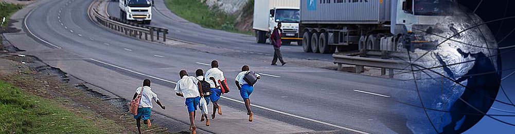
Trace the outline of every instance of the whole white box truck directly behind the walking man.
<path fill-rule="evenodd" d="M 255 0 L 254 22 L 256 42 L 266 43 L 274 27 L 281 22 L 284 45 L 297 42 L 302 45 L 299 35 L 300 0 Z"/>

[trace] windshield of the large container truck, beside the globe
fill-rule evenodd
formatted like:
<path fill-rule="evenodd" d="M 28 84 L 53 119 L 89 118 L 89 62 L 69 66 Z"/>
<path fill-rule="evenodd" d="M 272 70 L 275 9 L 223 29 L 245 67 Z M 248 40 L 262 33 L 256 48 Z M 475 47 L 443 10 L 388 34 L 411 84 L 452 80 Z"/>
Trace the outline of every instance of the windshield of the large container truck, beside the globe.
<path fill-rule="evenodd" d="M 415 0 L 415 15 L 451 15 L 449 0 Z"/>

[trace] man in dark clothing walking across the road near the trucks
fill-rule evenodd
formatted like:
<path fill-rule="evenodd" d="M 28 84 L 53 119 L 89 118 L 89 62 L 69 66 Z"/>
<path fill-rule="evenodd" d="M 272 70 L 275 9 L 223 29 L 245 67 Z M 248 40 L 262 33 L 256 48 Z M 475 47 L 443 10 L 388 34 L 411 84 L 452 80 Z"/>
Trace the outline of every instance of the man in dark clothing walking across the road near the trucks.
<path fill-rule="evenodd" d="M 281 54 L 281 33 L 283 32 L 283 29 L 281 29 L 281 22 L 277 24 L 277 27 L 273 29 L 272 35 L 270 35 L 270 42 L 273 45 L 273 60 L 272 60 L 272 66 L 276 66 L 277 59 L 282 63 L 282 66 L 286 64 L 286 62 L 283 61 L 283 55 Z"/>

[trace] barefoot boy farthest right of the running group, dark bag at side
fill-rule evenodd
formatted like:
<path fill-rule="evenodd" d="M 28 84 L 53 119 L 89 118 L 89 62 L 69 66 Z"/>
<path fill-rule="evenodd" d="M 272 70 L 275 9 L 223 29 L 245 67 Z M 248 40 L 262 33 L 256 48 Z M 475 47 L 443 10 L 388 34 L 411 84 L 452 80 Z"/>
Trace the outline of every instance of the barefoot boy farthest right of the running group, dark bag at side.
<path fill-rule="evenodd" d="M 253 113 L 250 110 L 250 99 L 249 96 L 254 90 L 254 85 L 250 85 L 247 82 L 245 82 L 244 78 L 245 75 L 249 72 L 249 66 L 244 65 L 242 67 L 242 72 L 239 72 L 238 75 L 236 75 L 236 86 L 239 90 L 239 95 L 243 98 L 243 101 L 245 102 L 245 107 L 247 108 L 247 115 L 249 115 L 249 121 L 252 122 L 253 120 Z M 261 79 L 261 75 L 258 73 L 255 73 L 256 78 L 259 80 Z"/>

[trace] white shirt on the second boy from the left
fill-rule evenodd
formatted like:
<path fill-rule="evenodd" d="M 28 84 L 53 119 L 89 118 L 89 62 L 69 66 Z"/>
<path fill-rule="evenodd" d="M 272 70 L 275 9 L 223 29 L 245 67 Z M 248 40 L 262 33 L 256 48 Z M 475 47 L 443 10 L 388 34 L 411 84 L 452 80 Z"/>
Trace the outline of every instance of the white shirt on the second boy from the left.
<path fill-rule="evenodd" d="M 200 97 L 197 78 L 195 76 L 182 76 L 182 79 L 177 81 L 175 85 L 175 92 L 182 93 L 184 98 Z"/>

